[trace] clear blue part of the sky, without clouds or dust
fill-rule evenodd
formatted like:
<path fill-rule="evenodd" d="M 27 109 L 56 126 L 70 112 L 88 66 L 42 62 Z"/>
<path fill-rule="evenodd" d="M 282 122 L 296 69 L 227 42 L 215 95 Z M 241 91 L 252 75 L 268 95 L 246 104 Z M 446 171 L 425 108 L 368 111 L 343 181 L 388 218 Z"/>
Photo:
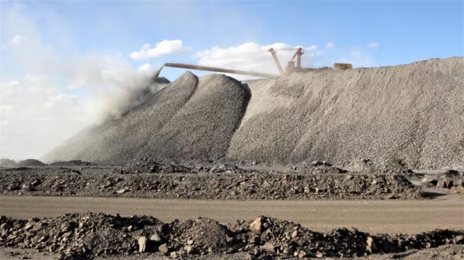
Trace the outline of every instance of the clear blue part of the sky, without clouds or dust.
<path fill-rule="evenodd" d="M 315 45 L 322 57 L 347 59 L 355 66 L 404 64 L 464 51 L 463 1 L 12 1 L 1 3 L 2 17 L 19 5 L 44 44 L 64 55 L 127 57 L 143 44 L 164 39 L 181 39 L 191 47 L 188 53 L 144 62 L 127 59 L 132 66 L 196 63 L 191 56 L 199 50 L 249 41 Z M 6 26 L 3 20 L 2 32 Z M 13 36 L 2 34 L 2 41 Z M 334 48 L 324 51 L 328 42 Z M 367 48 L 370 43 L 378 47 Z M 363 58 L 353 59 L 354 53 Z"/>

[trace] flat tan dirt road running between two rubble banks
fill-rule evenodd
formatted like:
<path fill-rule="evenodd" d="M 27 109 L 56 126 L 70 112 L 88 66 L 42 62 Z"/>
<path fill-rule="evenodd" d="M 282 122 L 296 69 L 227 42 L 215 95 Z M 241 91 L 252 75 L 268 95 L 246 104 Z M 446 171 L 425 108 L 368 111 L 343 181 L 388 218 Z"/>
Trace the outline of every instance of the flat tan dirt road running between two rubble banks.
<path fill-rule="evenodd" d="M 0 215 L 28 219 L 71 212 L 146 214 L 161 221 L 204 216 L 229 223 L 266 215 L 317 231 L 355 227 L 365 232 L 418 233 L 464 229 L 464 200 L 449 201 L 194 201 L 143 198 L 0 196 Z"/>

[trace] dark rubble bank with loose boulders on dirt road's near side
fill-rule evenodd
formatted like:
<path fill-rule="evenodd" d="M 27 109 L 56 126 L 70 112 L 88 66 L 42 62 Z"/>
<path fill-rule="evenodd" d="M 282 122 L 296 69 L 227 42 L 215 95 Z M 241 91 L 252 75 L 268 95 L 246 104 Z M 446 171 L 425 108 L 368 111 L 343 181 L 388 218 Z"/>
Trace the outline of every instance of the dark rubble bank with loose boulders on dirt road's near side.
<path fill-rule="evenodd" d="M 60 259 L 145 252 L 182 258 L 238 252 L 250 257 L 359 257 L 464 243 L 463 231 L 371 235 L 340 228 L 320 233 L 266 216 L 227 225 L 202 218 L 163 223 L 152 216 L 91 212 L 27 221 L 0 216 L 0 232 L 0 246 L 60 252 Z"/>

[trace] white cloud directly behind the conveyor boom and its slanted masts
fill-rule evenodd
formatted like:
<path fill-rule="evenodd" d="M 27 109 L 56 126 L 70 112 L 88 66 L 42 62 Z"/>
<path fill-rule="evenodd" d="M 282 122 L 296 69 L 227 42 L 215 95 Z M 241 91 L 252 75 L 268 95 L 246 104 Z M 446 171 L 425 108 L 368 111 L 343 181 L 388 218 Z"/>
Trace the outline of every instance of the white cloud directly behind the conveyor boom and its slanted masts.
<path fill-rule="evenodd" d="M 271 53 L 267 50 L 274 48 L 276 55 L 279 59 L 280 65 L 285 70 L 287 61 L 292 59 L 296 48 L 300 46 L 291 46 L 282 42 L 277 42 L 269 45 L 260 45 L 256 42 L 247 42 L 239 46 L 232 46 L 229 48 L 222 48 L 215 46 L 208 50 L 201 50 L 193 55 L 197 59 L 197 64 L 203 66 L 215 66 L 220 68 L 233 68 L 242 71 L 256 71 L 262 73 L 271 73 L 278 75 L 279 71 L 272 58 Z M 309 52 L 316 52 L 317 46 L 312 45 L 303 47 L 304 50 Z M 310 55 L 303 55 L 302 66 L 312 66 L 312 57 Z M 244 75 L 231 75 L 238 80 L 246 80 L 254 78 Z"/>

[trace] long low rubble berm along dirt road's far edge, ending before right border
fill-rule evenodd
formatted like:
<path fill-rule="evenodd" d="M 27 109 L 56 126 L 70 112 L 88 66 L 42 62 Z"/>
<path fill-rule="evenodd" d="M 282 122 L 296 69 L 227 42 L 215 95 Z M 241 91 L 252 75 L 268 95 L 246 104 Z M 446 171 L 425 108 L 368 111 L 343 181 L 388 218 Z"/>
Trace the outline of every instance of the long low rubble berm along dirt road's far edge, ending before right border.
<path fill-rule="evenodd" d="M 144 166 L 145 167 L 145 166 Z M 0 190 L 6 195 L 123 196 L 195 199 L 417 199 L 420 189 L 402 174 L 332 174 L 321 167 L 305 173 L 238 171 L 204 167 L 188 173 L 176 165 L 152 165 L 160 173 L 102 174 L 1 171 Z M 332 169 L 332 168 L 328 168 Z M 30 169 L 29 169 L 30 170 Z M 121 172 L 121 169 L 116 169 Z"/>

